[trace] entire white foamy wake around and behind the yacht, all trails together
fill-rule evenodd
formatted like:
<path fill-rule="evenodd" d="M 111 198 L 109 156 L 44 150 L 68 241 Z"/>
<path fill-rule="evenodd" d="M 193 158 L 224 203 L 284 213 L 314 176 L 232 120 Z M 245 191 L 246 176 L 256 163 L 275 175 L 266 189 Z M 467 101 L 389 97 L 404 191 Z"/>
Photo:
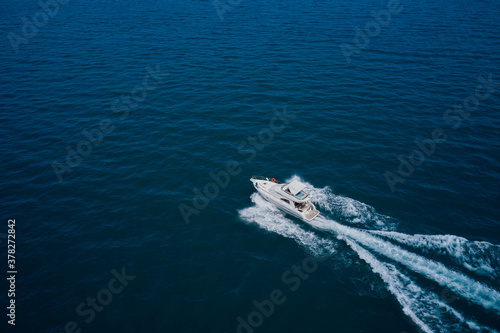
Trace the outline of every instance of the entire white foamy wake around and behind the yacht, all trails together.
<path fill-rule="evenodd" d="M 297 176 L 293 178 L 298 179 Z M 378 229 L 358 229 L 325 216 L 319 216 L 310 223 L 313 227 L 331 232 L 336 238 L 344 240 L 371 270 L 382 278 L 387 289 L 401 304 L 402 311 L 422 331 L 497 332 L 482 326 L 474 319 L 466 318 L 452 307 L 453 300 L 446 300 L 432 291 L 425 290 L 411 276 L 398 270 L 398 266 L 404 266 L 409 272 L 417 273 L 417 276 L 432 280 L 464 299 L 500 314 L 500 293 L 497 290 L 463 272 L 450 269 L 439 261 L 401 247 L 405 245 L 418 248 L 424 253 L 439 250 L 440 254 L 463 265 L 466 270 L 498 276 L 498 271 L 495 269 L 498 267 L 496 266 L 498 256 L 495 256 L 498 246 L 486 242 L 470 242 L 465 238 L 451 235 L 406 235 L 388 231 L 394 228 L 395 222 L 387 216 L 378 214 L 372 207 L 353 199 L 339 198 L 340 196 L 334 195 L 328 187 L 317 189 L 311 184 L 306 184 L 315 198 L 315 204 L 322 210 L 345 214 L 347 217 L 356 216 L 354 220 L 346 222 L 350 225 L 359 224 L 364 228 L 371 226 L 373 229 Z M 335 242 L 331 238 L 305 230 L 302 222 L 296 222 L 285 216 L 257 193 L 252 194 L 251 199 L 254 205 L 239 211 L 244 221 L 256 223 L 269 232 L 294 239 L 314 255 L 330 255 L 336 251 Z M 480 260 L 475 261 L 475 258 Z"/>

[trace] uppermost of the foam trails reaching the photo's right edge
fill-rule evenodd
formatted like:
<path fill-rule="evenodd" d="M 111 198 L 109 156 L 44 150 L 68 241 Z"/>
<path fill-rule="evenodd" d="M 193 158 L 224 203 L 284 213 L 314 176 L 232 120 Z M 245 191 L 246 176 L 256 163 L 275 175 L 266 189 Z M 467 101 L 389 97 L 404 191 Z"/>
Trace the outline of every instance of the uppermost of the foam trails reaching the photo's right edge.
<path fill-rule="evenodd" d="M 425 253 L 447 255 L 456 263 L 476 274 L 498 281 L 500 246 L 488 242 L 469 241 L 453 235 L 407 235 L 394 231 L 370 231 Z"/>

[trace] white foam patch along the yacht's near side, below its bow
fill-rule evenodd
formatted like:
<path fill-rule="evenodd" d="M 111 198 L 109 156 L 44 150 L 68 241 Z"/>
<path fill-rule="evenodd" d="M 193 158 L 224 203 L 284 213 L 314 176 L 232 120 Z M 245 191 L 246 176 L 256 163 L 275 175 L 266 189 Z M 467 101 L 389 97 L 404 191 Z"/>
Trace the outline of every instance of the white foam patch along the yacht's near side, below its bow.
<path fill-rule="evenodd" d="M 294 239 L 317 256 L 335 252 L 335 244 L 329 239 L 321 239 L 314 232 L 305 231 L 293 223 L 273 204 L 266 201 L 258 193 L 251 195 L 255 206 L 239 211 L 240 217 L 247 222 L 257 223 L 261 228 L 275 232 L 286 238 Z"/>

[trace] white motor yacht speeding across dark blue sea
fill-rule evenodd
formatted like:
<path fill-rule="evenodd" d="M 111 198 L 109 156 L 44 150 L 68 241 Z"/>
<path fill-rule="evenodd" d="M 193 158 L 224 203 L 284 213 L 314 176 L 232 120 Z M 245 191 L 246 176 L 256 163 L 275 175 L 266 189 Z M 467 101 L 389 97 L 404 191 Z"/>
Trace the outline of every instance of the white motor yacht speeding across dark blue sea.
<path fill-rule="evenodd" d="M 253 176 L 250 181 L 267 201 L 286 213 L 306 221 L 311 221 L 319 214 L 310 202 L 311 195 L 304 191 L 306 185 L 297 180 L 281 183 L 274 178 Z"/>

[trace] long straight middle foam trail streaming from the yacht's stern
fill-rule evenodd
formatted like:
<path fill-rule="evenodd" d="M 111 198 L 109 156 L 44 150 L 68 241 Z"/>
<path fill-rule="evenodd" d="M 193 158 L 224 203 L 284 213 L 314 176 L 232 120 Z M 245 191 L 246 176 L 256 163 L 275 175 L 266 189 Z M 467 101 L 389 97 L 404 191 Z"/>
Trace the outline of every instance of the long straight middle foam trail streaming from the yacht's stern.
<path fill-rule="evenodd" d="M 450 288 L 456 294 L 462 295 L 484 308 L 500 313 L 500 293 L 459 272 L 446 268 L 439 262 L 406 251 L 377 236 L 370 235 L 366 231 L 338 224 L 325 217 L 320 216 L 310 224 L 319 229 L 334 231 L 339 235 L 348 236 L 357 243 L 405 265 L 414 272 L 420 273 L 442 286 Z"/>

